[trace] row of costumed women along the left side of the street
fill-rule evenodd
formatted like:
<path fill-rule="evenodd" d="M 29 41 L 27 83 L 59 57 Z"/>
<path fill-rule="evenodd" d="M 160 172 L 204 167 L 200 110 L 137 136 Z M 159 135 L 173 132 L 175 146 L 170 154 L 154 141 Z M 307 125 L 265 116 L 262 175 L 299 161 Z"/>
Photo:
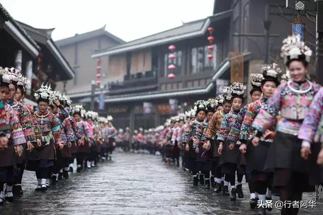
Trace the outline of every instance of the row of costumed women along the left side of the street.
<path fill-rule="evenodd" d="M 19 70 L 0 67 L 0 205 L 23 194 L 24 170 L 36 173 L 35 191 L 46 191 L 69 172 L 80 174 L 111 160 L 116 147 L 112 116 L 71 106 L 49 85 L 34 94 L 33 108 L 24 103 L 27 86 Z"/>

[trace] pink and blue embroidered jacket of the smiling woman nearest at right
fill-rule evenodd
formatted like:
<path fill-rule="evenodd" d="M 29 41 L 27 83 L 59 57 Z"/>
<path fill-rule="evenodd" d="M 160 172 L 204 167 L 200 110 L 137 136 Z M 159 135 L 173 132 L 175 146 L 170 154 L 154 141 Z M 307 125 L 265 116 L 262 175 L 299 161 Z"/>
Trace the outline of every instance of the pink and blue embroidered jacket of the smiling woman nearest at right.
<path fill-rule="evenodd" d="M 304 82 L 298 84 L 291 82 L 290 87 L 297 91 L 309 89 L 310 84 Z M 287 83 L 281 84 L 274 95 L 268 100 L 267 105 L 259 112 L 252 126 L 264 133 L 276 122 L 280 112 L 281 120 L 277 123 L 277 131 L 297 135 L 303 119 L 309 112 L 309 106 L 315 93 L 319 90 L 319 85 L 312 83 L 312 88 L 306 93 L 294 92 Z"/>

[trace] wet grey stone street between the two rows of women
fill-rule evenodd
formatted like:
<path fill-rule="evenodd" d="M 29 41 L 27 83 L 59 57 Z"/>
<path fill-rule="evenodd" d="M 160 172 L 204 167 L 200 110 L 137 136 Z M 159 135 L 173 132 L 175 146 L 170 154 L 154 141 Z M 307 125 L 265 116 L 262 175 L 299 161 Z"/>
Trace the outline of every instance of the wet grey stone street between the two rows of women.
<path fill-rule="evenodd" d="M 193 187 L 188 172 L 167 166 L 161 158 L 142 154 L 114 154 L 112 162 L 99 163 L 74 173 L 46 193 L 36 193 L 35 175 L 27 171 L 25 194 L 0 207 L 1 214 L 257 214 L 249 209 L 249 194 L 230 201 L 229 196 Z M 274 198 L 277 200 L 277 197 Z M 303 195 L 311 200 L 312 194 Z M 299 214 L 322 214 L 323 204 Z M 268 214 L 279 214 L 273 209 Z"/>

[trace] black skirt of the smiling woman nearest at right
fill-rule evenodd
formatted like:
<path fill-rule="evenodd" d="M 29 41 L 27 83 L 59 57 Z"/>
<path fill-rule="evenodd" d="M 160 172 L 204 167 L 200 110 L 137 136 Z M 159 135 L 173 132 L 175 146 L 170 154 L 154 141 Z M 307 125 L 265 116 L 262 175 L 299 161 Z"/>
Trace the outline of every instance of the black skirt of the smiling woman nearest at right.
<path fill-rule="evenodd" d="M 265 162 L 265 171 L 274 171 L 273 186 L 287 187 L 298 192 L 314 191 L 309 184 L 309 162 L 302 159 L 301 139 L 297 136 L 276 132 Z"/>

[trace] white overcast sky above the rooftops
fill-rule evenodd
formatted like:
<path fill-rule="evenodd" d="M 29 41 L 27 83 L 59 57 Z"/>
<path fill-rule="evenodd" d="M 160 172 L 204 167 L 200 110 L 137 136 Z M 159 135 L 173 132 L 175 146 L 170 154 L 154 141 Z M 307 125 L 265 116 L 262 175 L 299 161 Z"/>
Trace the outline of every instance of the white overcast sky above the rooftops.
<path fill-rule="evenodd" d="M 56 28 L 53 40 L 106 30 L 125 41 L 212 15 L 214 0 L 0 0 L 11 16 L 35 28 Z"/>

